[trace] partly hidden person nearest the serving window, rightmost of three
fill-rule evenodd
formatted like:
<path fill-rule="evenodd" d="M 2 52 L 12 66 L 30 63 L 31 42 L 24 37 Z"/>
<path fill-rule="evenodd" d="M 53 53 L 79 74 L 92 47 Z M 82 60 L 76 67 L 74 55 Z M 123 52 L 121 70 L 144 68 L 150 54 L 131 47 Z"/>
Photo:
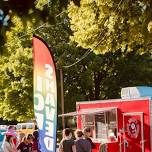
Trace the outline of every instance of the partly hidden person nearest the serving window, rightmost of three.
<path fill-rule="evenodd" d="M 85 139 L 87 139 L 89 142 L 90 142 L 90 144 L 91 144 L 91 148 L 92 149 L 95 149 L 96 148 L 96 146 L 95 146 L 95 144 L 92 142 L 92 140 L 91 140 L 91 128 L 89 128 L 89 127 L 85 127 L 84 129 L 83 129 L 83 134 L 84 134 L 84 138 Z"/>

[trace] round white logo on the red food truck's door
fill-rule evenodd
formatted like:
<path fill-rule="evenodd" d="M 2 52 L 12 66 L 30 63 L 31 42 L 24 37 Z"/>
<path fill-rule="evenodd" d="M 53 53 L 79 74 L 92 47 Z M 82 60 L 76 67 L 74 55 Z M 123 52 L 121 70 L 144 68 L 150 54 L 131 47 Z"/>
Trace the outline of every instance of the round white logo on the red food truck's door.
<path fill-rule="evenodd" d="M 139 135 L 139 122 L 136 119 L 130 118 L 127 122 L 127 133 L 131 138 L 137 138 Z"/>

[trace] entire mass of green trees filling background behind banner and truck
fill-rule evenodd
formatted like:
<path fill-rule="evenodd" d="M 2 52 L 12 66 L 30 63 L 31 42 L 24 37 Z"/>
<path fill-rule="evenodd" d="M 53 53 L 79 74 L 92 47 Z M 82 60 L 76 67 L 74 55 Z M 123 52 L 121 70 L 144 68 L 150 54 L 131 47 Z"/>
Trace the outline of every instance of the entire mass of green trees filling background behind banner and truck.
<path fill-rule="evenodd" d="M 33 34 L 48 43 L 55 58 L 59 113 L 60 68 L 65 112 L 74 111 L 76 101 L 119 98 L 122 87 L 152 85 L 150 0 L 56 0 L 49 4 L 46 0 L 8 0 L 0 4 L 4 17 L 10 17 L 7 25 L 0 21 L 3 119 L 34 118 Z M 78 62 L 89 49 L 98 55 L 90 52 Z"/>

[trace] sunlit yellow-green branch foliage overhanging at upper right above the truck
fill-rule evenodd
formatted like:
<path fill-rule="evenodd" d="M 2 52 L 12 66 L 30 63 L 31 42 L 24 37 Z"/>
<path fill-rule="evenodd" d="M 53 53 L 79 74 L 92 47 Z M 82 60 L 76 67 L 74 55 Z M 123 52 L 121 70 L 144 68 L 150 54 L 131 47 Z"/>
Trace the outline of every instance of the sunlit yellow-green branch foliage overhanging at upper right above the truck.
<path fill-rule="evenodd" d="M 152 1 L 81 0 L 68 7 L 71 40 L 96 53 L 152 49 Z M 137 17 L 138 16 L 138 17 Z"/>

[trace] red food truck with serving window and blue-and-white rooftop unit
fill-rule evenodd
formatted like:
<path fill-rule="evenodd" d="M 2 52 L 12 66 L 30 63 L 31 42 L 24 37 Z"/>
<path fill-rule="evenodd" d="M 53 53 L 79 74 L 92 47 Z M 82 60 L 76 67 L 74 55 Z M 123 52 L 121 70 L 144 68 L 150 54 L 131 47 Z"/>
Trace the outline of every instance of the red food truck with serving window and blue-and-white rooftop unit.
<path fill-rule="evenodd" d="M 75 115 L 79 129 L 92 129 L 93 152 L 102 146 L 105 152 L 152 152 L 151 96 L 150 87 L 123 88 L 121 99 L 77 102 L 76 112 L 65 116 Z"/>

